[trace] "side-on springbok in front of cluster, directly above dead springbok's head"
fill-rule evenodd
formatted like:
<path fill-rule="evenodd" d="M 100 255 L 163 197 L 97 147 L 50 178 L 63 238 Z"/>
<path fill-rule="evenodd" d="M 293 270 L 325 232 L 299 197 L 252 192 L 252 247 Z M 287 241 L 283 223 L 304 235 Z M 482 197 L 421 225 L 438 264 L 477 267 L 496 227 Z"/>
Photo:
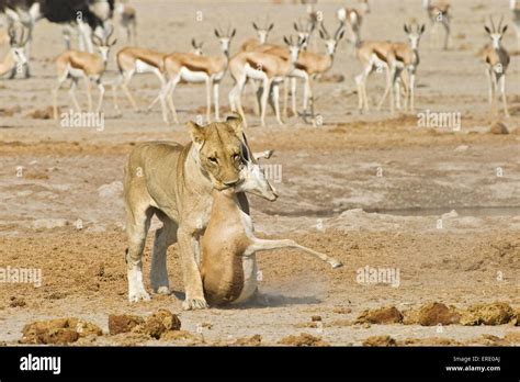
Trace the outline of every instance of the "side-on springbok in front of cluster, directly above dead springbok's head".
<path fill-rule="evenodd" d="M 271 87 L 276 121 L 283 125 L 280 117 L 280 82 L 294 70 L 299 49 L 304 44 L 304 42 L 297 38 L 294 41 L 293 36 L 291 36 L 291 38 L 284 36 L 283 41 L 289 46 L 289 59 L 263 52 L 241 52 L 229 61 L 229 72 L 235 80 L 235 86 L 229 91 L 229 105 L 233 111 L 238 110 L 245 126 L 247 126 L 247 122 L 240 98 L 244 87 L 249 79 L 262 82 L 260 104 L 261 125 L 265 126 L 265 108 Z"/>

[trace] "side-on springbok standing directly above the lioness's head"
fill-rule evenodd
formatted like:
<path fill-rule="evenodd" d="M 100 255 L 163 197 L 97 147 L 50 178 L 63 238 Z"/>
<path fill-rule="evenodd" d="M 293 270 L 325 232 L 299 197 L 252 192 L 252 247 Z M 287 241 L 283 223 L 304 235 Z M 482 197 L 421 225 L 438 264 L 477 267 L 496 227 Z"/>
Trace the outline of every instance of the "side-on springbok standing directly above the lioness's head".
<path fill-rule="evenodd" d="M 165 57 L 165 72 L 168 78 L 168 82 L 161 88 L 159 96 L 150 104 L 150 108 L 160 100 L 161 103 L 168 101 L 173 121 L 179 124 L 177 116 L 177 110 L 173 104 L 173 91 L 177 85 L 183 80 L 188 83 L 205 82 L 206 83 L 206 119 L 211 122 L 211 110 L 212 110 L 212 88 L 213 88 L 213 100 L 215 104 L 215 120 L 218 121 L 219 116 L 219 85 L 224 75 L 226 74 L 229 64 L 229 46 L 233 37 L 237 31 L 230 27 L 226 33 L 215 29 L 215 36 L 221 42 L 222 56 L 199 56 L 192 53 L 172 53 Z M 193 42 L 192 42 L 193 43 Z M 169 124 L 168 113 L 163 109 L 162 120 Z"/>

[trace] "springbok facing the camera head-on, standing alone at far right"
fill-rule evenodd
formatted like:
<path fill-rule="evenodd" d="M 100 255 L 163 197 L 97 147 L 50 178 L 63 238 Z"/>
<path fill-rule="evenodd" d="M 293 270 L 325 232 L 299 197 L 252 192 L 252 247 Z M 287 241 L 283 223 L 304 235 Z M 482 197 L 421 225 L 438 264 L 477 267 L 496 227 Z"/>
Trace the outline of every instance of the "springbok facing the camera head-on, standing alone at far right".
<path fill-rule="evenodd" d="M 489 18 L 489 20 L 491 29 L 487 25 L 485 25 L 484 29 L 491 38 L 491 44 L 486 45 L 481 52 L 481 58 L 486 64 L 486 75 L 489 83 L 489 103 L 491 104 L 491 108 L 495 109 L 497 88 L 500 87 L 504 112 L 506 116 L 509 116 L 506 97 L 506 71 L 509 66 L 510 57 L 509 53 L 501 44 L 504 34 L 507 31 L 507 25 L 502 26 L 504 18 L 500 19 L 498 27 L 495 27 L 493 18 Z"/>

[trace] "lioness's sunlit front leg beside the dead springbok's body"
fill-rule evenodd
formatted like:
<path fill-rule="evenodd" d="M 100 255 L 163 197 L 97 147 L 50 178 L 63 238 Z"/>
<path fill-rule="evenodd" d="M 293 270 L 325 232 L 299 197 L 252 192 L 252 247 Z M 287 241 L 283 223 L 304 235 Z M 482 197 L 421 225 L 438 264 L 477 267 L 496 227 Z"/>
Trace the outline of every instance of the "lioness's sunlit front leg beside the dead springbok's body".
<path fill-rule="evenodd" d="M 177 233 L 179 249 L 181 252 L 182 278 L 184 280 L 185 300 L 182 307 L 189 310 L 202 310 L 207 307 L 204 299 L 201 272 L 195 261 L 195 233 L 179 229 Z"/>

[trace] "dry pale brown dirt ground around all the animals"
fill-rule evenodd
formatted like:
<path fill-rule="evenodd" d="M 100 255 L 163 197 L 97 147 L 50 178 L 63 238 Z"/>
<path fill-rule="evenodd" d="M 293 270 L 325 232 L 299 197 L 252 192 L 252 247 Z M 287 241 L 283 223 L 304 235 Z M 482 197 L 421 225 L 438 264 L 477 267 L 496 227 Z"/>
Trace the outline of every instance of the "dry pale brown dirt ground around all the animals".
<path fill-rule="evenodd" d="M 365 38 L 403 41 L 404 22 L 426 19 L 419 0 L 372 2 L 363 25 Z M 252 36 L 255 16 L 269 12 L 275 23 L 270 38 L 280 42 L 292 22 L 305 14 L 301 5 L 252 1 L 133 3 L 139 15 L 142 45 L 185 50 L 191 37 L 196 37 L 205 41 L 210 54 L 217 52 L 213 27 L 218 22 L 238 29 L 231 45 L 235 52 Z M 315 86 L 320 126 L 292 117 L 281 127 L 270 113 L 265 128 L 249 115 L 247 134 L 255 149 L 275 149 L 268 164 L 281 195 L 274 203 L 251 198 L 257 231 L 297 239 L 337 257 L 344 267 L 331 270 L 293 250 L 261 254 L 257 301 L 196 312 L 181 310 L 177 246 L 169 249 L 168 259 L 176 293 L 154 295 L 147 303 L 127 302 L 123 258 L 125 157 L 138 142 L 186 143 L 184 127 L 165 126 L 157 109 L 135 113 L 126 100 L 122 100 L 124 116 L 116 119 L 110 97 L 103 131 L 66 128 L 59 121 L 33 117 L 33 112 L 50 105 L 52 60 L 63 49 L 60 29 L 38 23 L 33 77 L 0 80 L 0 267 L 38 268 L 43 281 L 39 288 L 0 284 L 0 342 L 16 345 L 22 327 L 37 319 L 79 317 L 106 333 L 109 314 L 147 315 L 168 308 L 179 314 L 182 329 L 196 339 L 193 344 L 249 344 L 244 338 L 260 335 L 262 345 L 276 345 L 290 335 L 308 333 L 330 345 L 362 345 L 372 336 L 418 345 L 493 345 L 508 336 L 517 338 L 508 344 L 519 345 L 519 329 L 512 324 L 353 323 L 366 308 L 394 305 L 406 311 L 433 301 L 460 308 L 494 302 L 505 302 L 517 312 L 520 307 L 519 47 L 513 33 L 508 33 L 504 44 L 517 54 L 508 70 L 511 117 L 501 119 L 489 112 L 484 68 L 475 53 L 486 43 L 483 22 L 487 14 L 505 14 L 510 21 L 507 1 L 453 0 L 452 4 L 453 38 L 448 52 L 432 46 L 427 24 L 416 103 L 418 112 L 461 113 L 461 130 L 420 127 L 416 113 L 391 115 L 383 110 L 360 115 L 353 93 L 353 76 L 360 65 L 351 47 L 341 43 L 329 75 L 344 79 Z M 339 5 L 332 1 L 319 4 L 329 30 Z M 197 11 L 202 21 L 196 21 Z M 122 46 L 120 42 L 117 48 Z M 108 77 L 114 77 L 113 61 L 109 68 Z M 230 86 L 227 77 L 221 91 L 224 105 Z M 370 79 L 373 103 L 383 86 L 383 76 Z M 137 76 L 132 88 L 145 108 L 158 90 L 157 79 Z M 84 101 L 82 91 L 79 97 Z M 181 122 L 203 113 L 203 100 L 202 86 L 181 85 L 176 97 Z M 250 94 L 245 103 L 251 104 Z M 63 110 L 68 104 L 63 90 Z M 488 132 L 499 120 L 510 134 Z M 157 227 L 155 222 L 151 231 Z M 145 255 L 146 273 L 150 246 L 151 238 Z M 399 270 L 399 285 L 358 282 L 357 271 L 364 267 Z M 320 316 L 321 324 L 309 324 L 313 316 Z M 117 335 L 87 344 L 182 341 Z"/>

